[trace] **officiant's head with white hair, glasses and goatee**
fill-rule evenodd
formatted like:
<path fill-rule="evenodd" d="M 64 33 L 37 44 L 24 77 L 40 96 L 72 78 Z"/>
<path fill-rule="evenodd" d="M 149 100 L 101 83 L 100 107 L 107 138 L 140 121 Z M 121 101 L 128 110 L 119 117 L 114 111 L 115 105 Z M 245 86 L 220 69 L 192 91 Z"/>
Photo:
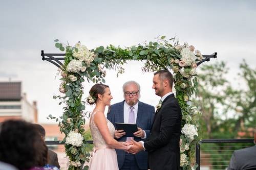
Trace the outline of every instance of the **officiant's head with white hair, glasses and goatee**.
<path fill-rule="evenodd" d="M 136 81 L 128 81 L 123 84 L 123 97 L 129 106 L 137 104 L 140 98 L 140 85 Z"/>

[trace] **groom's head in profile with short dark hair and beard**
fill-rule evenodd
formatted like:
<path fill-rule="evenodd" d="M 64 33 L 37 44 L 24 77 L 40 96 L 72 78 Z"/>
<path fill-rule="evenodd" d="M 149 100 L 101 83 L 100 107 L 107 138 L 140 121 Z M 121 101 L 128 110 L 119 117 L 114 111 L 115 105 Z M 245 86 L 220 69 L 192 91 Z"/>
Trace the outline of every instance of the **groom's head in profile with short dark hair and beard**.
<path fill-rule="evenodd" d="M 153 78 L 153 86 L 156 95 L 163 96 L 171 92 L 173 89 L 173 75 L 168 70 L 160 70 L 155 72 Z"/>

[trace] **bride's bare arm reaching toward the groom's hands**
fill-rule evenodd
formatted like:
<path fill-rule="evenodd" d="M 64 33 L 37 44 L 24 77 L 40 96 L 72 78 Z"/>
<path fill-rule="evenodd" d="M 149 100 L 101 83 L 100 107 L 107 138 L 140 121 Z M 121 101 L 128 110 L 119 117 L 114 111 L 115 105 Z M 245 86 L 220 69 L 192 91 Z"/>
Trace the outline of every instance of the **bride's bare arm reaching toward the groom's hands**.
<path fill-rule="evenodd" d="M 98 112 L 94 115 L 94 123 L 98 127 L 102 137 L 104 138 L 106 144 L 110 145 L 110 147 L 120 150 L 128 150 L 129 147 L 125 146 L 121 142 L 118 142 L 111 136 L 108 126 L 106 125 L 106 118 L 104 113 Z"/>

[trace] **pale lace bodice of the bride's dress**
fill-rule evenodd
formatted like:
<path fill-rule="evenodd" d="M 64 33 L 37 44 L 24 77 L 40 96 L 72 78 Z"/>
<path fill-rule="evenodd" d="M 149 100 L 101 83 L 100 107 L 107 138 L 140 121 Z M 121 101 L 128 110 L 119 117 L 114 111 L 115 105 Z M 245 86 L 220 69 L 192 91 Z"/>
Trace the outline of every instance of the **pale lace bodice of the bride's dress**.
<path fill-rule="evenodd" d="M 103 149 L 106 147 L 109 147 L 108 144 L 106 144 L 104 138 L 102 137 L 98 127 L 94 123 L 94 115 L 97 114 L 98 111 L 95 111 L 91 114 L 91 119 L 90 119 L 90 129 L 91 129 L 91 134 L 93 138 L 93 143 L 94 147 L 96 150 Z M 115 133 L 115 127 L 114 125 L 106 118 L 106 125 L 109 128 L 110 134 L 114 137 Z"/>

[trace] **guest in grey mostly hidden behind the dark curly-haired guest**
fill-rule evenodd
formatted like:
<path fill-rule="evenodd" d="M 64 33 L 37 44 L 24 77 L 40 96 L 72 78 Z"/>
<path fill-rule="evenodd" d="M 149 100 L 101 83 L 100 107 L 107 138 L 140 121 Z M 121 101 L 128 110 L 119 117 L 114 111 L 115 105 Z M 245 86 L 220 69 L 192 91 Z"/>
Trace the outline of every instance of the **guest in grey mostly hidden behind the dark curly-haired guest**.
<path fill-rule="evenodd" d="M 42 137 L 43 140 L 45 140 L 45 137 L 46 137 L 46 131 L 45 131 L 45 128 L 42 127 L 41 125 L 38 125 L 38 124 L 33 124 L 34 127 L 38 130 L 40 136 Z M 59 166 L 59 162 L 58 162 L 58 155 L 52 151 L 52 150 L 49 150 L 48 149 L 48 161 L 47 161 L 47 164 L 49 165 L 54 165 L 56 167 L 60 167 Z"/>

